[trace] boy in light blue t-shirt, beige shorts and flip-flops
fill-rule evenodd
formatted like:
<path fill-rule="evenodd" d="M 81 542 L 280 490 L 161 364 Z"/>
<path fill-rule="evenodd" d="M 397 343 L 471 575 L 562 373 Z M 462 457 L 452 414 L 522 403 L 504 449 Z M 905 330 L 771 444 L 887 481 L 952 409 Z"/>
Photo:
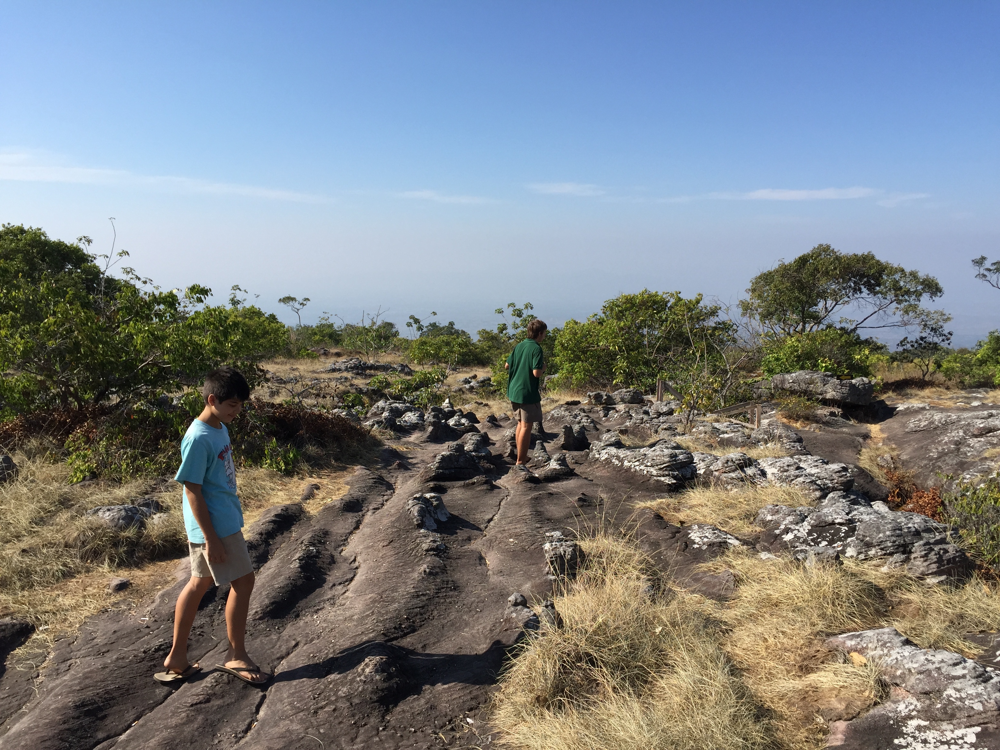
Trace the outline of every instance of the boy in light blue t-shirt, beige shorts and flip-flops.
<path fill-rule="evenodd" d="M 243 539 L 243 511 L 236 495 L 236 468 L 226 424 L 232 422 L 250 398 L 246 378 L 231 367 L 205 376 L 205 408 L 181 440 L 181 467 L 175 480 L 184 486 L 184 526 L 191 555 L 191 580 L 177 597 L 174 644 L 154 677 L 162 683 L 183 682 L 200 671 L 187 657 L 191 625 L 202 596 L 211 587 L 230 584 L 226 602 L 229 651 L 219 669 L 251 685 L 263 685 L 271 675 L 253 663 L 244 643 L 247 610 L 253 591 L 253 563 Z"/>

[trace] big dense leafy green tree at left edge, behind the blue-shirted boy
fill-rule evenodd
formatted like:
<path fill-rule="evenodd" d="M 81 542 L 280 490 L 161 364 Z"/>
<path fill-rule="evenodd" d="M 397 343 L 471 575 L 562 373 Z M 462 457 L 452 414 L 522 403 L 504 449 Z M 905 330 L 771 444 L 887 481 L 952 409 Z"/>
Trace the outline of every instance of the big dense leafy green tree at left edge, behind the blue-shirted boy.
<path fill-rule="evenodd" d="M 211 290 L 151 286 L 109 256 L 51 240 L 40 229 L 0 230 L 0 414 L 134 401 L 196 383 L 223 362 L 259 381 L 261 359 L 285 328 L 256 307 L 211 307 Z M 118 257 L 123 257 L 119 253 Z M 104 268 L 94 261 L 104 257 Z"/>

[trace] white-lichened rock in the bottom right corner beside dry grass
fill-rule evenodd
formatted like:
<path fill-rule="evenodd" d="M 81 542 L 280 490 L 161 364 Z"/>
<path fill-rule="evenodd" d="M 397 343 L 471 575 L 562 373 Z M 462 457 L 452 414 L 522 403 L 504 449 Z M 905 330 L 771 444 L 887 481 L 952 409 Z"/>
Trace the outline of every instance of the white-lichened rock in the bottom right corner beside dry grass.
<path fill-rule="evenodd" d="M 895 628 L 844 633 L 826 646 L 874 662 L 888 699 L 831 724 L 829 746 L 979 750 L 1000 747 L 1000 672 L 939 649 L 922 649 Z"/>

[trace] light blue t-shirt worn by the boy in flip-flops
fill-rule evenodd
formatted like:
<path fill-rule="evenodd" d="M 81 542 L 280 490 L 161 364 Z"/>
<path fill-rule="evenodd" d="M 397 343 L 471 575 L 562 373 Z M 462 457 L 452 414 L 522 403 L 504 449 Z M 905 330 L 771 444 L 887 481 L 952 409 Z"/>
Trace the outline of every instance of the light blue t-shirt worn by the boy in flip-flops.
<path fill-rule="evenodd" d="M 174 477 L 182 484 L 201 485 L 201 494 L 208 506 L 208 516 L 215 533 L 221 539 L 243 528 L 243 510 L 236 495 L 236 467 L 233 465 L 233 446 L 225 425 L 215 429 L 196 419 L 181 440 L 181 468 Z M 183 492 L 183 490 L 182 490 Z M 188 540 L 204 544 L 205 535 L 188 505 L 184 494 L 184 527 Z"/>

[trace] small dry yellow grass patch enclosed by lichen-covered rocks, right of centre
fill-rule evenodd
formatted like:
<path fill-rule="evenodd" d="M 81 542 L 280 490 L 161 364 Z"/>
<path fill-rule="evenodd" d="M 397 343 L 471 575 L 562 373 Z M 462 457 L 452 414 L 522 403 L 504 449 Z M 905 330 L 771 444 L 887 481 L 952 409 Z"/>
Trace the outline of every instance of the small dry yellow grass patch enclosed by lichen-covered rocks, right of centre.
<path fill-rule="evenodd" d="M 760 532 L 753 525 L 753 519 L 765 505 L 795 507 L 808 504 L 805 495 L 791 487 L 748 484 L 734 489 L 694 487 L 640 503 L 637 507 L 651 508 L 671 523 L 708 523 L 745 538 Z"/>

